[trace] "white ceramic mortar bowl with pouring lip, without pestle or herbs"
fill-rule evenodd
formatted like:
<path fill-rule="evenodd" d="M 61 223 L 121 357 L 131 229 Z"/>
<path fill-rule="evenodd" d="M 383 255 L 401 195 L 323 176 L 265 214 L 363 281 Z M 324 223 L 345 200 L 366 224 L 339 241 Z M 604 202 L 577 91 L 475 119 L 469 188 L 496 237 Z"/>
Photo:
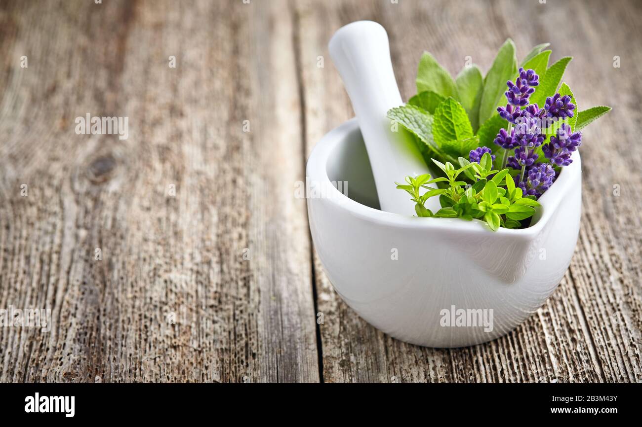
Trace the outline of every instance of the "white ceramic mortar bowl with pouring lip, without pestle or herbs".
<path fill-rule="evenodd" d="M 309 226 L 334 289 L 365 321 L 412 344 L 470 346 L 516 328 L 559 284 L 577 243 L 581 178 L 575 151 L 522 230 L 382 212 L 352 119 L 308 158 Z"/>

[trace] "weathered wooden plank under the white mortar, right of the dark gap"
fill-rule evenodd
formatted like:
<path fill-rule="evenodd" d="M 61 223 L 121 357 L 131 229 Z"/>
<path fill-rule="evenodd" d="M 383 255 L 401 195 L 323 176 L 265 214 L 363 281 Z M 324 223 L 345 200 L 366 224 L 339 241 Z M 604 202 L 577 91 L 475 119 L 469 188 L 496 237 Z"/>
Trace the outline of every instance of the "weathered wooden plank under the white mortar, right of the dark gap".
<path fill-rule="evenodd" d="M 640 120 L 633 101 L 639 88 L 630 87 L 629 80 L 642 74 L 639 49 L 631 43 L 631 37 L 639 39 L 633 29 L 641 15 L 639 4 L 616 1 L 605 12 L 596 1 L 470 1 L 465 8 L 446 3 L 297 3 L 308 151 L 325 131 L 352 115 L 329 61 L 317 69 L 309 56 L 328 59 L 326 44 L 333 31 L 358 19 L 374 19 L 388 29 L 404 99 L 415 93 L 421 51 L 431 51 L 455 75 L 467 56 L 487 70 L 496 49 L 512 37 L 522 55 L 544 41 L 553 44 L 551 59 L 574 54 L 566 81 L 580 108 L 615 105 L 618 117 L 625 119 L 611 116 L 584 131 L 584 213 L 577 253 L 546 305 L 507 337 L 453 350 L 390 339 L 340 301 L 315 260 L 318 309 L 325 314 L 320 325 L 324 380 L 391 381 L 397 375 L 402 381 L 640 381 L 642 235 L 635 183 L 640 181 L 636 164 L 642 151 L 627 144 L 622 155 L 616 145 L 635 140 L 634 123 Z M 516 21 L 523 15 L 529 22 Z M 615 55 L 626 62 L 621 69 L 613 67 Z M 612 196 L 615 184 L 621 187 L 619 197 Z"/>

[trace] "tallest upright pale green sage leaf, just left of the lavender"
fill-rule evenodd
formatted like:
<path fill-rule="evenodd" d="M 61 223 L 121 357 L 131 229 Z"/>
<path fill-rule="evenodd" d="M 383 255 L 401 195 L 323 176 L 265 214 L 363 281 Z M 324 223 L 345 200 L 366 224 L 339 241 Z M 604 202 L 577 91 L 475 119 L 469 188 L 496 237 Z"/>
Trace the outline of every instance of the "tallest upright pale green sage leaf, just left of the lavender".
<path fill-rule="evenodd" d="M 479 123 L 487 121 L 496 111 L 499 100 L 506 92 L 506 82 L 517 73 L 515 44 L 508 38 L 499 48 L 492 66 L 484 79 Z"/>

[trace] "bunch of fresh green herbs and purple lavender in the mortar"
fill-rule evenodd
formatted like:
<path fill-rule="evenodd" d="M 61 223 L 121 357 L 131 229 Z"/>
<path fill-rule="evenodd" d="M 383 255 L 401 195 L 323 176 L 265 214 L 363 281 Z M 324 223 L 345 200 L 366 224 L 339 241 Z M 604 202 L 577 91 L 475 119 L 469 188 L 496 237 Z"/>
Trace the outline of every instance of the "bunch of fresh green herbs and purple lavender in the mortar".
<path fill-rule="evenodd" d="M 562 82 L 572 58 L 549 67 L 548 46 L 535 46 L 518 68 L 508 39 L 485 77 L 473 64 L 455 80 L 431 54 L 422 55 L 417 95 L 388 112 L 415 136 L 426 162 L 442 172 L 432 180 L 408 176 L 408 185 L 397 183 L 417 203 L 417 215 L 483 219 L 492 230 L 527 225 L 537 199 L 572 162 L 582 143 L 579 130 L 611 110 L 578 110 Z M 427 191 L 420 194 L 421 188 Z M 434 214 L 424 206 L 433 196 L 440 196 L 442 206 Z"/>

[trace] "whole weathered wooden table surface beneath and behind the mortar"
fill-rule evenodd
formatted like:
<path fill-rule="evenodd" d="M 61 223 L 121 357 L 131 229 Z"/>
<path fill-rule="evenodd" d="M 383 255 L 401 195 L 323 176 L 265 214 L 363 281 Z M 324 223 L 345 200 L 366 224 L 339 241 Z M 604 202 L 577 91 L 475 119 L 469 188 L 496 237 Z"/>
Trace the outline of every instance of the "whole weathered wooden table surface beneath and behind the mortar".
<path fill-rule="evenodd" d="M 53 326 L 0 328 L 0 381 L 642 381 L 642 3 L 456 3 L 0 1 L 0 308 Z M 422 51 L 485 72 L 511 37 L 575 56 L 580 108 L 614 107 L 582 132 L 571 266 L 506 337 L 392 339 L 318 262 L 293 190 L 353 115 L 327 41 L 360 19 L 404 99 Z M 77 135 L 86 113 L 128 138 Z"/>

